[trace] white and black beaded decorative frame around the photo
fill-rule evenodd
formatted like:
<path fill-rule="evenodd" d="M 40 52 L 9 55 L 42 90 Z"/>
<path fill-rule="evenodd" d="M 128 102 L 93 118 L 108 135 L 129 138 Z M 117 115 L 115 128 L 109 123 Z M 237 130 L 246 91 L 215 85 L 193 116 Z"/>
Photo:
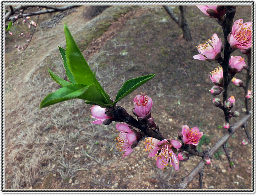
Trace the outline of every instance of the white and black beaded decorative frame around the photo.
<path fill-rule="evenodd" d="M 105 4 L 105 5 L 198 5 L 198 4 L 225 4 L 225 5 L 252 5 L 252 189 L 251 190 L 15 190 L 15 189 L 5 189 L 5 12 L 4 12 L 4 6 L 8 4 L 12 5 L 24 5 L 24 4 L 31 4 L 31 5 L 38 5 L 38 4 L 47 4 L 47 5 L 63 5 L 63 4 L 72 4 L 72 5 L 98 5 L 98 4 Z M 164 1 L 164 0 L 155 0 L 155 1 L 120 1 L 120 0 L 112 0 L 112 1 L 98 1 L 98 0 L 89 0 L 89 1 L 1 1 L 1 192 L 73 192 L 73 193 L 108 193 L 108 194 L 118 194 L 120 192 L 126 192 L 126 193 L 164 193 L 169 194 L 170 192 L 173 194 L 180 194 L 180 193 L 189 193 L 189 194 L 202 194 L 202 193 L 210 193 L 210 194 L 216 194 L 218 192 L 226 192 L 226 193 L 232 193 L 232 194 L 241 194 L 241 193 L 250 193 L 254 194 L 255 191 L 255 35 L 256 35 L 256 29 L 255 29 L 255 1 Z M 93 193 L 91 193 L 93 192 Z M 222 194 L 221 193 L 221 194 Z"/>

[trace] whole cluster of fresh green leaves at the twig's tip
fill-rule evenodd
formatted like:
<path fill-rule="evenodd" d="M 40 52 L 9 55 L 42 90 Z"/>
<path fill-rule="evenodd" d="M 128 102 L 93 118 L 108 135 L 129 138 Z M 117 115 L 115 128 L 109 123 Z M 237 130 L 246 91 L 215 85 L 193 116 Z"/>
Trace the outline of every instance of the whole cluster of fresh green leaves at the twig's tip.
<path fill-rule="evenodd" d="M 61 88 L 48 94 L 44 100 L 42 100 L 40 108 L 74 98 L 86 100 L 85 103 L 87 104 L 109 108 L 155 76 L 155 74 L 151 74 L 129 79 L 118 91 L 116 99 L 113 102 L 96 79 L 95 72 L 93 73 L 93 71 L 91 71 L 66 24 L 64 25 L 64 32 L 67 48 L 59 47 L 59 51 L 69 81 L 64 80 L 48 69 L 52 79 L 56 81 Z"/>

